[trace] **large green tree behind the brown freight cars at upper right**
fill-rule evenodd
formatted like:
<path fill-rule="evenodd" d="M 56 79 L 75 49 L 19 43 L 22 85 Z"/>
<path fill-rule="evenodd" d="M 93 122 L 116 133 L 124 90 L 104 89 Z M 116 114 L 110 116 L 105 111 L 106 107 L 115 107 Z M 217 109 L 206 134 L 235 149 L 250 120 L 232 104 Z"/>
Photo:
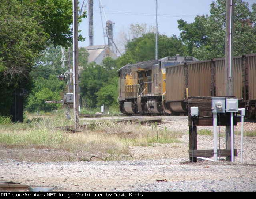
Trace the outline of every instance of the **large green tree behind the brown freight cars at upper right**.
<path fill-rule="evenodd" d="M 242 0 L 234 1 L 234 56 L 255 53 L 256 4 L 252 11 Z M 178 20 L 181 39 L 187 52 L 200 60 L 225 55 L 226 1 L 217 0 L 211 4 L 210 15 L 196 16 L 193 23 Z"/>

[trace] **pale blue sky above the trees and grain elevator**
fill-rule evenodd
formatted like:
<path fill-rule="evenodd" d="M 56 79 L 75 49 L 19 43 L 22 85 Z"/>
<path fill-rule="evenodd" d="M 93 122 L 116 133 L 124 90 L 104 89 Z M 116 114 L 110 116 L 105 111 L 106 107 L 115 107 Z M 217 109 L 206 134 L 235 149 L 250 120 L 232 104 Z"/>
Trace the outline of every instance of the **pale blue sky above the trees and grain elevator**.
<path fill-rule="evenodd" d="M 146 23 L 148 26 L 155 26 L 155 0 L 100 0 L 103 6 L 103 24 L 106 20 L 114 22 L 113 37 L 120 35 L 120 32 L 128 31 L 130 24 Z M 83 0 L 80 0 L 80 7 Z M 209 14 L 210 4 L 213 0 L 158 0 L 158 32 L 167 36 L 180 35 L 178 30 L 178 19 L 192 23 L 195 16 Z M 249 1 L 250 2 L 250 1 Z M 84 5 L 87 0 L 84 1 Z M 83 8 L 84 9 L 84 8 Z M 88 10 L 88 6 L 85 8 Z M 99 0 L 94 0 L 94 45 L 103 45 L 103 29 Z M 106 17 L 106 18 L 105 18 Z M 79 47 L 89 44 L 88 18 L 84 18 L 79 25 L 85 41 L 79 42 Z M 107 39 L 106 39 L 107 43 Z"/>

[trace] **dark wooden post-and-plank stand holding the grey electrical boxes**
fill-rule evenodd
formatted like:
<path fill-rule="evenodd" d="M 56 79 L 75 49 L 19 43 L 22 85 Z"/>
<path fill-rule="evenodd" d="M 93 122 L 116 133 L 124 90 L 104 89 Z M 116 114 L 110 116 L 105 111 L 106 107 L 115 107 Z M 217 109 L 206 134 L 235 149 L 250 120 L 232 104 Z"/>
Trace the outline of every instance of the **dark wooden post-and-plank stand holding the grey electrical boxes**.
<path fill-rule="evenodd" d="M 225 96 L 226 97 L 226 96 Z M 226 98 L 234 98 L 229 96 Z M 213 126 L 212 116 L 212 96 L 188 97 L 188 125 L 189 125 L 189 160 L 196 162 L 196 157 L 213 157 L 212 150 L 197 150 L 197 126 Z M 190 108 L 198 107 L 198 117 L 191 117 Z M 238 118 L 234 117 L 234 125 L 237 125 Z M 219 126 L 230 126 L 230 113 L 220 114 L 218 118 Z M 227 136 L 227 135 L 226 135 Z M 227 138 L 226 138 L 227 140 Z M 229 140 L 229 139 L 228 139 Z M 212 143 L 213 148 L 213 143 Z M 218 150 L 219 157 L 230 159 L 231 147 L 226 141 L 226 149 Z M 237 156 L 237 150 L 234 150 L 234 156 Z"/>

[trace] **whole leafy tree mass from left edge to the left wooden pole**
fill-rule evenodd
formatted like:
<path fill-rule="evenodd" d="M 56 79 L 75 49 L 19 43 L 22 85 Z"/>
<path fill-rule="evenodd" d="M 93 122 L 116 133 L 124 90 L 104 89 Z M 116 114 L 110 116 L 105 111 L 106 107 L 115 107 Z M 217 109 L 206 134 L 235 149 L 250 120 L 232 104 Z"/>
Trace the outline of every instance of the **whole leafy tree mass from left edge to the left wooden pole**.
<path fill-rule="evenodd" d="M 24 89 L 31 88 L 30 71 L 46 46 L 68 45 L 72 39 L 71 24 L 72 0 L 1 0 L 1 115 L 10 114 L 16 96 L 23 96 Z M 23 97 L 18 100 L 23 101 Z M 19 104 L 18 109 L 22 109 L 22 103 Z"/>

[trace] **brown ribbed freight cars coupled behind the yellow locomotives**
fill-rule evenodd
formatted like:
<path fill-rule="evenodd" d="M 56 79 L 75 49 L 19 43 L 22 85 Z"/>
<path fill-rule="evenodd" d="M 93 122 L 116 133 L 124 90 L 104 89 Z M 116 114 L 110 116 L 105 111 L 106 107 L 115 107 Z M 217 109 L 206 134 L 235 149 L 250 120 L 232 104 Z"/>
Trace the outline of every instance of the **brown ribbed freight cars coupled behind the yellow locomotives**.
<path fill-rule="evenodd" d="M 188 96 L 226 96 L 225 58 L 182 63 L 166 68 L 166 104 L 171 112 L 187 112 Z M 256 116 L 256 54 L 234 57 L 234 96 L 247 116 Z"/>

